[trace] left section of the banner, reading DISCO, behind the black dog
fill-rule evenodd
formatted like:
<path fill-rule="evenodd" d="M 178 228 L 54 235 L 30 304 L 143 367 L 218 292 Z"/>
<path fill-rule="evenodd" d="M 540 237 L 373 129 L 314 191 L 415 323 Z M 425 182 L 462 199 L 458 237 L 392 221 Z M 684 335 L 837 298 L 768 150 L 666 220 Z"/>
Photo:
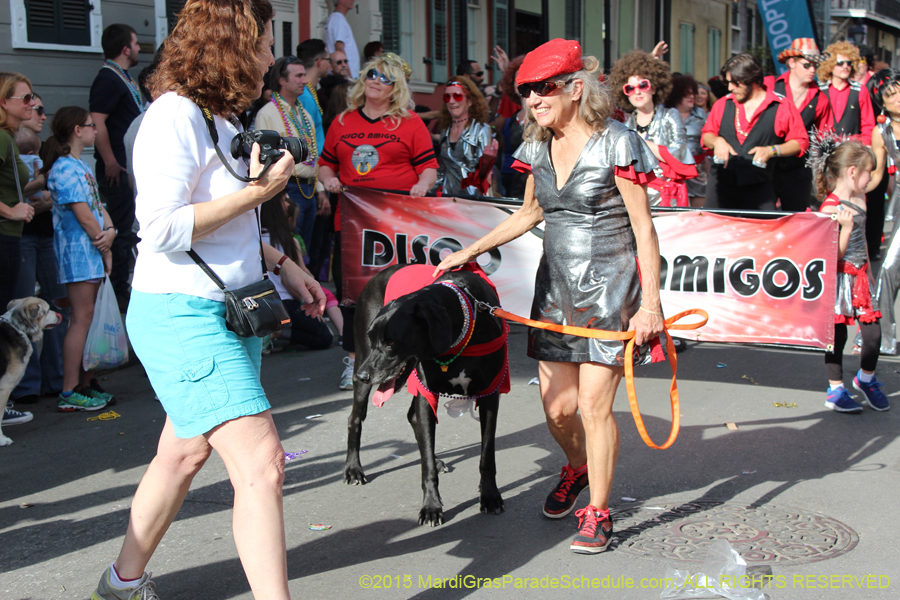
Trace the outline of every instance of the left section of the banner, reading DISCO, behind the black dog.
<path fill-rule="evenodd" d="M 413 198 L 363 188 L 341 195 L 344 296 L 355 300 L 376 273 L 396 264 L 437 265 L 480 239 L 518 206 L 462 198 Z M 479 257 L 503 308 L 531 313 L 543 232 L 534 229 Z"/>

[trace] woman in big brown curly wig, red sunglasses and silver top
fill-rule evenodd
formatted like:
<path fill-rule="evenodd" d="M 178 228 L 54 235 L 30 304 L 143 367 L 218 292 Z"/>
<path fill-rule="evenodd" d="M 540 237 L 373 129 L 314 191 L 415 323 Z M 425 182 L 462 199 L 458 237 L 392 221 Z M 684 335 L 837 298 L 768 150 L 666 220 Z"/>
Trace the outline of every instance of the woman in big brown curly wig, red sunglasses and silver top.
<path fill-rule="evenodd" d="M 688 150 L 687 134 L 678 111 L 663 106 L 672 89 L 668 63 L 643 50 L 634 50 L 616 61 L 609 78 L 618 105 L 625 110 L 632 109 L 625 126 L 637 131 L 657 160 L 670 167 L 665 173 L 669 177 L 664 175 L 662 164 L 656 167 L 657 181 L 647 189 L 650 204 L 671 203 L 677 197 L 678 206 L 688 205 L 684 183 L 687 173 L 676 177 L 673 170 L 693 165 L 694 157 Z"/>

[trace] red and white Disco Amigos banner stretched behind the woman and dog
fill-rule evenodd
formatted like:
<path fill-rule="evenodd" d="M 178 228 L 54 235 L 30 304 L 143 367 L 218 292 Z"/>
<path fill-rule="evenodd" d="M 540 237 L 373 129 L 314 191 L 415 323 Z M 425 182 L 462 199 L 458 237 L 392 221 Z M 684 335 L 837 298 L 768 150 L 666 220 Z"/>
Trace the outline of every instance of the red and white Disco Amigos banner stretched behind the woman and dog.
<path fill-rule="evenodd" d="M 437 265 L 478 240 L 517 205 L 508 200 L 412 198 L 349 188 L 341 196 L 344 296 L 355 299 L 378 271 L 395 264 Z M 697 331 L 709 342 L 824 350 L 834 343 L 838 236 L 830 215 L 751 219 L 685 211 L 654 215 L 667 315 L 709 313 Z M 543 231 L 535 228 L 479 258 L 503 308 L 531 313 Z M 625 249 L 623 249 L 625 250 Z"/>

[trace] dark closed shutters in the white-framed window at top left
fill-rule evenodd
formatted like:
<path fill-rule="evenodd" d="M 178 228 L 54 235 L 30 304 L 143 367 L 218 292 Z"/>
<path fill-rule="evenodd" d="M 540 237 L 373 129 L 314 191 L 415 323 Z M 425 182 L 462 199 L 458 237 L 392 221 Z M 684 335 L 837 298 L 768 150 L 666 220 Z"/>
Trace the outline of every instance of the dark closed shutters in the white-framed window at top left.
<path fill-rule="evenodd" d="M 85 0 L 26 0 L 28 41 L 90 46 L 89 13 Z"/>

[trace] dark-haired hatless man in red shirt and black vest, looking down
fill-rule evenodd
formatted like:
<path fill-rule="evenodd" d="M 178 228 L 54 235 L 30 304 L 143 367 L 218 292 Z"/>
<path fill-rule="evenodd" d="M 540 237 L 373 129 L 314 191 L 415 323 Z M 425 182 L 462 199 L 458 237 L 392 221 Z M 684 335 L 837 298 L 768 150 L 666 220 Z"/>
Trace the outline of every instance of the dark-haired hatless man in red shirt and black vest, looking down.
<path fill-rule="evenodd" d="M 762 68 L 750 54 L 722 67 L 731 92 L 710 110 L 703 145 L 713 150 L 706 208 L 775 210 L 774 162 L 809 148 L 800 113 L 784 96 L 766 89 Z"/>

